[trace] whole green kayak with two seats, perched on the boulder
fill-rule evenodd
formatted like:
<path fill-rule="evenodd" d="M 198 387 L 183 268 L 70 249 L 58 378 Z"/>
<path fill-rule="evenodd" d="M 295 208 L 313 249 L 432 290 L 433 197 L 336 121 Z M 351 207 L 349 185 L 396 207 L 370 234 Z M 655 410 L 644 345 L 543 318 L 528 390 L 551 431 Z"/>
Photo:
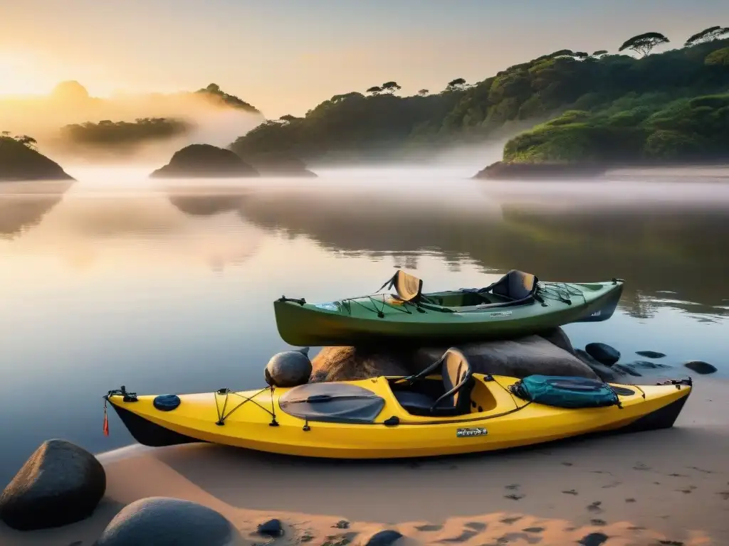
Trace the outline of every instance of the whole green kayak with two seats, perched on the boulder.
<path fill-rule="evenodd" d="M 451 344 L 607 320 L 623 282 L 543 282 L 512 270 L 485 288 L 423 293 L 422 280 L 398 270 L 368 296 L 327 303 L 283 296 L 273 307 L 278 333 L 290 345 Z M 395 293 L 381 293 L 386 288 Z"/>

